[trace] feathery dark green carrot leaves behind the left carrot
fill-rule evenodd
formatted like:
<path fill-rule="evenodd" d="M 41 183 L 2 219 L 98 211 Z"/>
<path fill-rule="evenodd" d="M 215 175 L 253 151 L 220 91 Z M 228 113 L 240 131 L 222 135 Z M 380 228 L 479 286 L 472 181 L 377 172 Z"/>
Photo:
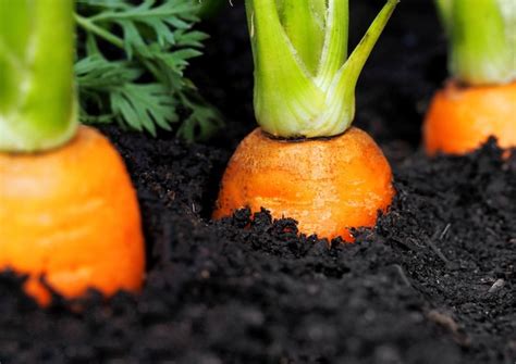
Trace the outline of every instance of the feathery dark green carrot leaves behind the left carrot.
<path fill-rule="evenodd" d="M 192 0 L 76 0 L 81 47 L 75 64 L 81 120 L 156 135 L 208 137 L 221 125 L 184 72 L 207 35 L 195 30 Z"/>

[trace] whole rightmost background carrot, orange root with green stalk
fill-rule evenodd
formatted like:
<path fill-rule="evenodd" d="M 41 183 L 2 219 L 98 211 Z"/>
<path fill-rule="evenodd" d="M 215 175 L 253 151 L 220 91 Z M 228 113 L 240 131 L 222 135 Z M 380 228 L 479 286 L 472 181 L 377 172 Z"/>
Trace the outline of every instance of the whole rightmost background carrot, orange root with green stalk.
<path fill-rule="evenodd" d="M 423 124 L 429 154 L 466 153 L 490 136 L 516 147 L 516 7 L 504 0 L 437 0 L 452 78 Z"/>

